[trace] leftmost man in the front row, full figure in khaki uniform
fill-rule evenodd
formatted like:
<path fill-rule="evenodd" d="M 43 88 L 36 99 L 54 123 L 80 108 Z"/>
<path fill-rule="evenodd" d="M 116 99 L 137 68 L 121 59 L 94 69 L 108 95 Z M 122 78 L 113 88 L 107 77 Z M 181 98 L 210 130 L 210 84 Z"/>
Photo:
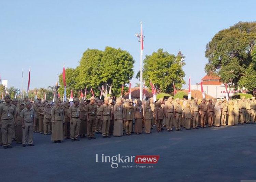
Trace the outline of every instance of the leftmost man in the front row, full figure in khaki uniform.
<path fill-rule="evenodd" d="M 16 121 L 16 109 L 11 104 L 9 95 L 4 97 L 5 103 L 0 105 L 0 121 L 2 124 L 2 145 L 3 148 L 12 148 L 12 137 L 14 132 L 14 123 Z"/>

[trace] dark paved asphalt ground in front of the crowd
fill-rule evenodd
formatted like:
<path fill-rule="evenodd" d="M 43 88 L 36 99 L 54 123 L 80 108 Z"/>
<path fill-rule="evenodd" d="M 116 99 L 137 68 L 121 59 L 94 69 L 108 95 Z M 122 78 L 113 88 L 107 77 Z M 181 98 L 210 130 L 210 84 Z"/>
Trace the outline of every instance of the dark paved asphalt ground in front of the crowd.
<path fill-rule="evenodd" d="M 52 143 L 34 134 L 34 147 L 0 148 L 1 182 L 256 180 L 256 124 Z M 104 156 L 160 155 L 154 168 L 111 168 Z M 101 159 L 101 158 L 99 158 Z M 120 165 L 136 165 L 121 163 Z"/>

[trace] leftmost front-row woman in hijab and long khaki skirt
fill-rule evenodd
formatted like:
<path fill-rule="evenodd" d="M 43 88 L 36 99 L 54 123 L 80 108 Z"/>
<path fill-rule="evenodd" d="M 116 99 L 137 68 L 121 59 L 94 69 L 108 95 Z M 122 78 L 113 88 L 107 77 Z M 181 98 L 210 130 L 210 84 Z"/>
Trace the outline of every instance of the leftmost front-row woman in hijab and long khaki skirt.
<path fill-rule="evenodd" d="M 59 99 L 56 99 L 56 105 L 53 106 L 51 115 L 52 141 L 54 141 L 54 143 L 61 142 L 61 140 L 63 140 L 64 109 Z"/>

